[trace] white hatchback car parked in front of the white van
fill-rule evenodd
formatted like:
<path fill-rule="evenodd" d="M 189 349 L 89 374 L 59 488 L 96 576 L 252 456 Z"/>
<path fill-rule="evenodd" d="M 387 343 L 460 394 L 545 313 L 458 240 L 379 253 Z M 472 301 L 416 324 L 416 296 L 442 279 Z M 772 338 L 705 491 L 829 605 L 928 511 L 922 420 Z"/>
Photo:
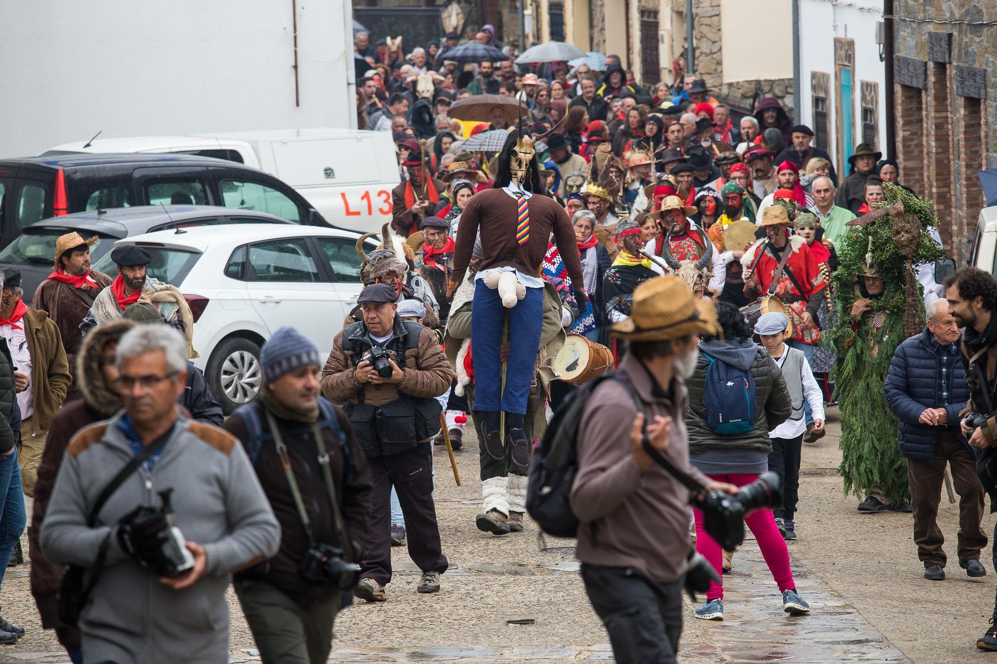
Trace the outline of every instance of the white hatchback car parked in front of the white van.
<path fill-rule="evenodd" d="M 360 295 L 360 233 L 322 226 L 224 225 L 133 235 L 148 272 L 183 292 L 193 313 L 194 365 L 225 414 L 256 397 L 259 349 L 289 325 L 324 358 Z M 368 240 L 365 251 L 377 246 Z M 111 254 L 94 265 L 115 275 Z"/>

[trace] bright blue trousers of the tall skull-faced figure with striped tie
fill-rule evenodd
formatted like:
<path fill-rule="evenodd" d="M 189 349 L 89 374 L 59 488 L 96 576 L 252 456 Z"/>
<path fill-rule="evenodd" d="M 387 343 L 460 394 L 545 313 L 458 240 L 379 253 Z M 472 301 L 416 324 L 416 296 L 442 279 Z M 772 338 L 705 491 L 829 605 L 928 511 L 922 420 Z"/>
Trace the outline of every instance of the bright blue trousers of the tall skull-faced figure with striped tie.
<path fill-rule="evenodd" d="M 501 305 L 498 289 L 481 279 L 475 286 L 471 309 L 471 352 L 475 358 L 475 410 L 526 414 L 529 386 L 540 346 L 543 324 L 543 289 L 527 288 L 526 295 L 511 309 Z M 501 389 L 502 318 L 508 312 L 508 363 L 505 391 Z"/>

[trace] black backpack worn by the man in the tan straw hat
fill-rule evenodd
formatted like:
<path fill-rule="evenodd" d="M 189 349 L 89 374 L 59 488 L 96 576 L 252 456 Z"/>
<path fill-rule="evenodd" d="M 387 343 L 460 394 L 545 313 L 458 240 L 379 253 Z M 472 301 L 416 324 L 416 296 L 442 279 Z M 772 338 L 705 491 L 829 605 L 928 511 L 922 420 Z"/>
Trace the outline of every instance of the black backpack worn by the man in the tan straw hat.
<path fill-rule="evenodd" d="M 549 535 L 574 537 L 577 534 L 578 517 L 571 511 L 571 486 L 578 473 L 578 425 L 588 398 L 606 380 L 622 385 L 634 399 L 637 411 L 644 411 L 626 379 L 613 373 L 600 376 L 567 395 L 533 451 L 526 485 L 526 511 Z"/>

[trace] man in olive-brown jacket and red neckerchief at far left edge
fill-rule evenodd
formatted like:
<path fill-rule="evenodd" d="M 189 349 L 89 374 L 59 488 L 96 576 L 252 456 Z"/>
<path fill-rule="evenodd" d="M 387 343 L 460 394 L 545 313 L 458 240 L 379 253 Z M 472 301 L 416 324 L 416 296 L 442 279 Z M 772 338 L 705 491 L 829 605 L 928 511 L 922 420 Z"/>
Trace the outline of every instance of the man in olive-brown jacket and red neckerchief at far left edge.
<path fill-rule="evenodd" d="M 18 461 L 24 493 L 33 496 L 49 422 L 62 406 L 73 378 L 59 328 L 47 313 L 29 307 L 21 299 L 21 272 L 5 267 L 2 287 L 0 336 L 10 349 L 18 374 L 15 378 L 27 377 L 27 385 L 17 395 L 21 408 Z"/>

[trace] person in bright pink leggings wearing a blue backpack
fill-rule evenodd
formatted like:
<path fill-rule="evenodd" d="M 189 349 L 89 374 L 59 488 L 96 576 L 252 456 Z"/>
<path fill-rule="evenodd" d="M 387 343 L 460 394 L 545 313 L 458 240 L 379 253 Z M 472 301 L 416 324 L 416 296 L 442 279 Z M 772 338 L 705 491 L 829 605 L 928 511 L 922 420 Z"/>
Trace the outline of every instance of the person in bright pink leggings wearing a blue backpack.
<path fill-rule="evenodd" d="M 764 348 L 752 340 L 744 314 L 729 302 L 718 302 L 721 337 L 704 337 L 696 371 L 688 379 L 689 463 L 711 480 L 737 487 L 754 483 L 769 468 L 769 432 L 790 417 L 793 405 L 779 368 Z M 721 548 L 704 528 L 703 512 L 693 507 L 696 550 L 718 572 Z M 783 593 L 783 610 L 807 613 L 790 570 L 790 554 L 770 508 L 745 516 L 758 540 L 769 570 Z M 724 588 L 713 583 L 696 617 L 724 619 Z"/>

